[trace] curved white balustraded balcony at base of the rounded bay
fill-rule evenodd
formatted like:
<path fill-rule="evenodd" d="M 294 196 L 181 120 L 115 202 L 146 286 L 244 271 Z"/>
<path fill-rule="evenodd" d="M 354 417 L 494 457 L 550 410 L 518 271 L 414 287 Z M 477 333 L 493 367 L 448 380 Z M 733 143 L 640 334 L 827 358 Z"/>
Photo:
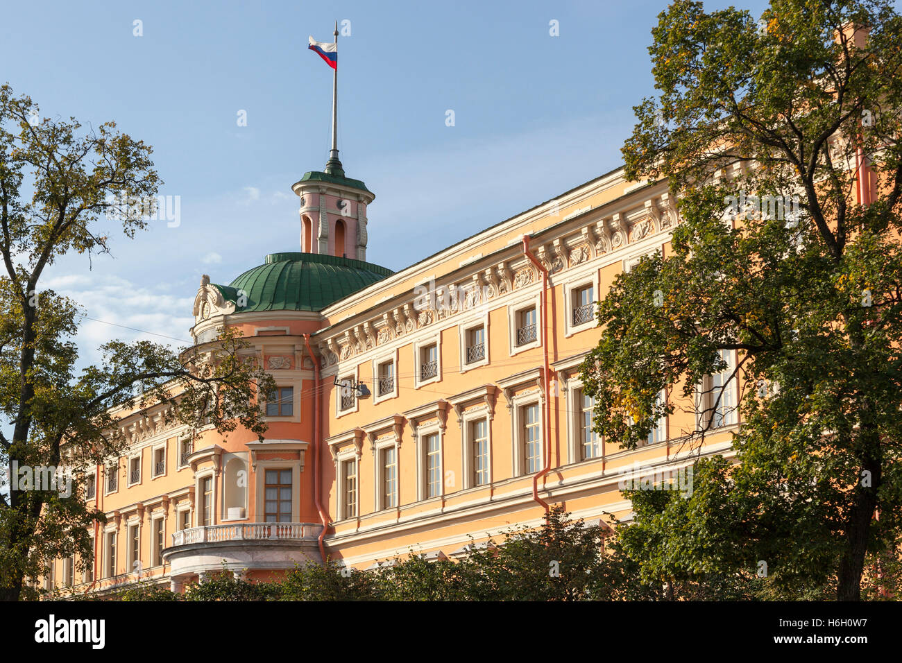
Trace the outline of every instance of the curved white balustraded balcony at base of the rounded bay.
<path fill-rule="evenodd" d="M 163 550 L 170 577 L 183 583 L 192 576 L 226 569 L 287 570 L 321 562 L 318 538 L 323 526 L 311 522 L 240 522 L 182 529 Z"/>

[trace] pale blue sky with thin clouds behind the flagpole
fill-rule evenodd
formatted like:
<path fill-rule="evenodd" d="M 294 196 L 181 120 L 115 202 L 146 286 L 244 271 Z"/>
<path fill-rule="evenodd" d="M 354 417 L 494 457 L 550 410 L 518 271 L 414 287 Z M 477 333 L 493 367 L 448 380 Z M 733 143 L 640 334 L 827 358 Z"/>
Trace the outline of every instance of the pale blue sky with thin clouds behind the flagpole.
<path fill-rule="evenodd" d="M 757 16 L 765 3 L 738 5 Z M 181 201 L 178 227 L 153 222 L 92 263 L 66 258 L 43 286 L 90 318 L 187 341 L 202 273 L 227 283 L 266 253 L 298 251 L 290 185 L 322 170 L 330 137 L 331 69 L 307 41 L 331 41 L 336 19 L 351 28 L 338 47 L 338 147 L 347 175 L 376 194 L 367 259 L 417 262 L 620 165 L 632 106 L 654 91 L 647 48 L 665 6 L 7 5 L 0 80 L 42 116 L 115 120 L 152 144 L 161 194 Z M 90 320 L 78 340 L 93 361 L 114 337 L 165 341 Z"/>

